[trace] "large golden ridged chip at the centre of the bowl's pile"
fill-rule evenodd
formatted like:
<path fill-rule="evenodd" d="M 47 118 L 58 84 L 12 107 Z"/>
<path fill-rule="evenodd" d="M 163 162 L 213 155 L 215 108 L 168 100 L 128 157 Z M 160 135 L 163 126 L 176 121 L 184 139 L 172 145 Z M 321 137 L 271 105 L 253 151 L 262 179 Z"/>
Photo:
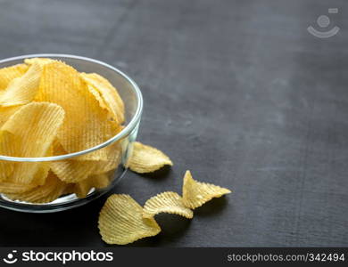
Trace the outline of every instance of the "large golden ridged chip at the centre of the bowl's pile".
<path fill-rule="evenodd" d="M 120 126 L 108 120 L 93 94 L 70 66 L 54 61 L 44 66 L 36 101 L 54 102 L 65 110 L 64 123 L 58 132 L 59 142 L 68 153 L 87 150 L 112 138 Z M 88 153 L 80 159 L 99 160 L 104 150 Z"/>

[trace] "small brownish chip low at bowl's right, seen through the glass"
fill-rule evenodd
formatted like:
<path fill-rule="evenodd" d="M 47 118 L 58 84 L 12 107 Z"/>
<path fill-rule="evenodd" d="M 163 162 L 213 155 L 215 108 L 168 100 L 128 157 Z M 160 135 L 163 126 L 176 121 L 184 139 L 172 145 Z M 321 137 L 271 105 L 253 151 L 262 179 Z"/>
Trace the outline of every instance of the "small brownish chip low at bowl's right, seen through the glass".
<path fill-rule="evenodd" d="M 110 184 L 108 174 L 91 175 L 87 179 L 76 183 L 74 192 L 79 198 L 85 198 L 92 189 L 104 189 Z"/>

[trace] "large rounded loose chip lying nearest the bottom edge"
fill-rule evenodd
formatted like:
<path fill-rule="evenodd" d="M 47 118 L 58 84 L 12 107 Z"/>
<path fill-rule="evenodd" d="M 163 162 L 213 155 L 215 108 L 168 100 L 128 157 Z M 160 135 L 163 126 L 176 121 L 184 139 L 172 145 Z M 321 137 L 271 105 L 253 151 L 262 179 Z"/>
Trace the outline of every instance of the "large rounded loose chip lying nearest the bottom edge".
<path fill-rule="evenodd" d="M 102 239 L 117 245 L 152 237 L 161 231 L 153 218 L 143 218 L 143 207 L 128 195 L 112 195 L 106 200 L 98 226 Z"/>

